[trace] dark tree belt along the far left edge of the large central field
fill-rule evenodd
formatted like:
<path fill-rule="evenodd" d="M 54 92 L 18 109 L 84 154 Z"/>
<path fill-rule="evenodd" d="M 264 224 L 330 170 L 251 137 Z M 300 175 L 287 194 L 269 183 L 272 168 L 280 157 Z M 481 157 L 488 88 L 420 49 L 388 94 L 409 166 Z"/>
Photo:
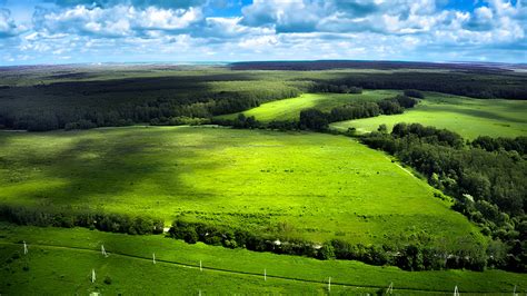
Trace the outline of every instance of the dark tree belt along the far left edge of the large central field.
<path fill-rule="evenodd" d="M 89 129 L 119 127 L 133 124 L 158 125 L 169 118 L 211 118 L 258 107 L 261 102 L 297 97 L 299 91 L 275 91 L 268 93 L 217 93 L 207 101 L 156 99 L 140 105 L 123 105 L 110 110 L 76 108 L 66 111 L 0 111 L 0 128 L 46 131 L 54 129 Z"/>

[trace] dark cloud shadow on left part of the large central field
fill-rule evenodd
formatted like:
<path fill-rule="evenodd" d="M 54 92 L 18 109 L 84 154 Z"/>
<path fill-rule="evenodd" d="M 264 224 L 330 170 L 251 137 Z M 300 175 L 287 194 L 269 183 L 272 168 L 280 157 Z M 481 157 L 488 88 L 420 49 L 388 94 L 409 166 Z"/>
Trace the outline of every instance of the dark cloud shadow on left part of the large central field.
<path fill-rule="evenodd" d="M 24 165 L 26 170 L 41 172 L 43 178 L 37 180 L 42 181 L 42 186 L 31 187 L 22 195 L 34 198 L 37 204 L 43 206 L 97 207 L 119 204 L 120 208 L 126 208 L 128 201 L 140 200 L 141 205 L 161 207 L 162 204 L 156 205 L 156 200 L 148 195 L 177 196 L 188 191 L 200 195 L 191 184 L 179 178 L 186 169 L 191 169 L 181 167 L 182 161 L 202 157 L 198 149 L 188 144 L 175 147 L 188 134 L 185 129 L 167 131 L 162 128 L 133 127 L 81 131 L 77 135 L 53 132 L 50 134 L 50 141 L 54 137 L 71 137 L 72 141 L 67 148 L 48 154 L 41 154 L 39 144 L 36 144 L 26 151 L 22 160 L 9 164 L 8 156 L 6 166 Z M 196 146 L 202 145 L 205 140 L 206 136 L 192 137 Z M 207 164 L 210 169 L 220 165 Z M 47 186 L 47 180 L 60 182 Z"/>

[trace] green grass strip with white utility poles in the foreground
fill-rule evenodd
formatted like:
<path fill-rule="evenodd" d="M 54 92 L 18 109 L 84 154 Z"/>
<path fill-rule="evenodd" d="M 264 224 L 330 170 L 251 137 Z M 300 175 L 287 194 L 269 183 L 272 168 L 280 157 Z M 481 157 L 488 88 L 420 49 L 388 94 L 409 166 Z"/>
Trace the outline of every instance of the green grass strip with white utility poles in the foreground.
<path fill-rule="evenodd" d="M 501 270 L 404 272 L 396 267 L 188 245 L 162 236 L 129 236 L 88 229 L 0 224 L 2 294 L 325 294 L 374 293 L 394 283 L 395 293 L 511 293 L 527 276 Z M 28 255 L 20 241 L 26 240 Z M 110 254 L 100 253 L 103 245 Z M 157 264 L 152 263 L 156 254 Z M 14 256 L 19 254 L 20 256 Z M 19 258 L 18 258 L 19 257 Z M 202 262 L 202 272 L 199 262 Z M 24 270 L 26 268 L 26 270 Z M 91 269 L 96 283 L 90 282 Z M 264 269 L 268 275 L 264 280 Z M 111 284 L 105 284 L 106 277 Z M 444 292 L 444 293 L 440 293 Z"/>

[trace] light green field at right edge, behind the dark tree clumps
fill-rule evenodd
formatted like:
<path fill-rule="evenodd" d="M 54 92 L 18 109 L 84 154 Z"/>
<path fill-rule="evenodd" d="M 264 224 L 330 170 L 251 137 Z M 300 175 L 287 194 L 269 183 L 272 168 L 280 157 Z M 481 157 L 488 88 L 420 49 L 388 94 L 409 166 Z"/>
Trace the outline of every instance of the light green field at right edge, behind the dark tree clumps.
<path fill-rule="evenodd" d="M 398 122 L 419 122 L 446 128 L 468 139 L 478 136 L 517 137 L 527 135 L 527 101 L 481 100 L 427 92 L 414 109 L 402 115 L 379 116 L 331 124 L 337 130 L 355 127 L 359 132 L 377 130 L 385 124 L 388 130 Z"/>

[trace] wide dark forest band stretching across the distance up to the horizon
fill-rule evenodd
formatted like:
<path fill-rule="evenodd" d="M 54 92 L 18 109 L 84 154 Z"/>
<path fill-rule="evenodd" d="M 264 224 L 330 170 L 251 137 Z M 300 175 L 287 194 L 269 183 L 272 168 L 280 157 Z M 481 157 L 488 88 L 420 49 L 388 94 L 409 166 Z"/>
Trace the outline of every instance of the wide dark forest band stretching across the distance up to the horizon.
<path fill-rule="evenodd" d="M 396 62 L 381 65 L 382 70 L 378 71 L 354 67 L 335 71 L 252 71 L 240 65 L 232 65 L 235 70 L 217 67 L 199 71 L 157 67 L 133 70 L 135 75 L 153 72 L 155 77 L 132 78 L 128 70 L 111 68 L 97 71 L 71 67 L 10 68 L 0 72 L 0 128 L 43 131 L 209 122 L 216 115 L 243 111 L 302 92 L 360 93 L 362 89 L 400 89 L 407 90 L 407 97 L 417 98 L 421 90 L 475 98 L 527 99 L 527 76 L 488 65 L 445 68 Z M 411 108 L 406 102 L 398 103 Z M 388 100 L 378 107 L 381 114 L 401 111 Z M 351 114 L 376 107 L 346 108 L 335 110 L 329 121 L 361 118 Z M 374 109 L 364 117 L 377 112 Z"/>

